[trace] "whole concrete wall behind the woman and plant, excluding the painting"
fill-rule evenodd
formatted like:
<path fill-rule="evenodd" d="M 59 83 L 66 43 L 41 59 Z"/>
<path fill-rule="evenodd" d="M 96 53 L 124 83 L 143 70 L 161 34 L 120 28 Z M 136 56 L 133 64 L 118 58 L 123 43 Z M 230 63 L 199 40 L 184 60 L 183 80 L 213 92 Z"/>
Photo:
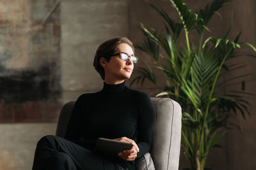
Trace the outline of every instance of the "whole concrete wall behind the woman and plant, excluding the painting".
<path fill-rule="evenodd" d="M 170 7 L 169 1 L 155 0 L 152 3 L 168 10 L 170 15 L 175 17 L 175 11 Z M 188 1 L 188 3 L 194 10 L 198 9 L 198 6 L 203 7 L 205 1 Z M 161 17 L 144 1 L 62 1 L 60 10 L 62 103 L 76 99 L 81 93 L 94 92 L 102 88 L 102 80 L 92 66 L 93 55 L 102 41 L 115 36 L 128 36 L 134 43 L 139 43 L 143 38 L 138 27 L 140 22 L 143 22 L 147 27 L 159 28 L 159 25 L 163 25 Z M 232 32 L 234 33 L 232 33 L 231 39 L 243 29 L 241 40 L 256 45 L 256 6 L 253 0 L 247 0 L 243 3 L 234 0 L 228 3 L 220 11 L 223 20 L 220 21 L 216 15 L 209 27 L 212 27 L 213 32 L 218 32 L 217 36 L 225 34 L 232 11 L 234 25 Z M 148 59 L 142 52 L 137 52 L 136 55 L 140 61 Z M 152 60 L 148 60 L 152 62 Z M 248 64 L 244 73 L 255 71 L 255 60 L 246 58 L 240 59 L 240 61 Z M 137 66 L 141 65 L 140 62 Z M 256 94 L 253 87 L 255 78 L 255 74 L 249 76 L 246 81 L 251 81 L 245 85 L 246 90 L 254 94 Z M 154 95 L 164 86 L 163 74 L 157 76 L 157 81 L 159 82 L 158 87 L 147 82 L 143 87 L 134 85 L 134 88 L 145 90 Z M 129 84 L 129 81 L 127 83 Z M 240 84 L 232 83 L 226 88 L 239 87 L 241 87 Z M 207 160 L 207 167 L 214 170 L 256 169 L 256 162 L 254 161 L 256 159 L 255 97 L 251 97 L 250 101 L 253 103 L 252 115 L 247 120 L 243 120 L 241 117 L 233 120 L 241 125 L 243 133 L 237 130 L 228 132 L 221 141 L 225 148 L 212 149 Z M 45 134 L 54 134 L 55 129 L 56 124 L 0 124 L 0 169 L 31 169 L 36 141 Z M 188 164 L 184 160 L 183 154 L 180 153 L 180 169 L 183 167 L 188 167 Z"/>

